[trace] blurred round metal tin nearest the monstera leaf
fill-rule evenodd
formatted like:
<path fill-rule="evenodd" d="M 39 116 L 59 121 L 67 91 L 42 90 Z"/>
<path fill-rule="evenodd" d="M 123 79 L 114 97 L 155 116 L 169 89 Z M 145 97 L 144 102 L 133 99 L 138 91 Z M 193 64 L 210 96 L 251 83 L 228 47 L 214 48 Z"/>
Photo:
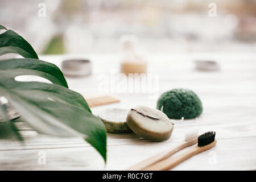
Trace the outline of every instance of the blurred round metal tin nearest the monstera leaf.
<path fill-rule="evenodd" d="M 61 70 L 65 76 L 88 76 L 92 73 L 92 64 L 86 59 L 69 59 L 61 63 Z"/>

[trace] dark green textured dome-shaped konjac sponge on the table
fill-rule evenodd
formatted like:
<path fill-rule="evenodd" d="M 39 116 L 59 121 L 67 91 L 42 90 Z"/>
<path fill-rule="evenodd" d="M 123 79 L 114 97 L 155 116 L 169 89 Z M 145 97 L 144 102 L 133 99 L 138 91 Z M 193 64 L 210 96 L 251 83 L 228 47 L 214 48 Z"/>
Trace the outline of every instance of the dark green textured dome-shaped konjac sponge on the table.
<path fill-rule="evenodd" d="M 158 98 L 156 108 L 171 119 L 192 119 L 203 111 L 200 98 L 189 89 L 172 89 Z"/>

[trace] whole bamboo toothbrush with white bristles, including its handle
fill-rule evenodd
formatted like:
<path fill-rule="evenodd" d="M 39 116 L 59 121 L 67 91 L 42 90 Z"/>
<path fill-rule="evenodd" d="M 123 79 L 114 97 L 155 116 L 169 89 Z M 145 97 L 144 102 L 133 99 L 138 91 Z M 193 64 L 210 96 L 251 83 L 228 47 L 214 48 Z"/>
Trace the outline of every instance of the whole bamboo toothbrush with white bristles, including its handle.
<path fill-rule="evenodd" d="M 167 159 L 171 155 L 175 154 L 175 152 L 177 152 L 185 147 L 192 146 L 193 144 L 197 143 L 197 136 L 198 136 L 197 129 L 189 130 L 184 135 L 184 141 L 181 144 L 179 144 L 178 146 L 176 146 L 175 148 L 173 148 L 172 150 L 166 150 L 166 151 L 160 152 L 156 155 L 153 155 L 150 158 L 142 160 L 142 162 L 139 162 L 139 163 L 135 164 L 134 166 L 127 168 L 126 170 L 128 170 L 128 171 L 143 170 L 144 168 L 146 168 L 156 162 L 159 162 L 163 159 Z"/>

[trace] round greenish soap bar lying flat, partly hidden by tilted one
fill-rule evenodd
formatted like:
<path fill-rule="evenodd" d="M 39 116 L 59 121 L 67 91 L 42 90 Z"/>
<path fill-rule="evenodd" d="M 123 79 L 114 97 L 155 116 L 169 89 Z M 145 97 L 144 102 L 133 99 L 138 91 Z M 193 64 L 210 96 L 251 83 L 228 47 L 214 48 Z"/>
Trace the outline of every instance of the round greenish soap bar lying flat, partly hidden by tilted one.
<path fill-rule="evenodd" d="M 109 133 L 128 133 L 131 129 L 126 123 L 129 109 L 112 108 L 102 110 L 98 117 L 104 122 Z"/>

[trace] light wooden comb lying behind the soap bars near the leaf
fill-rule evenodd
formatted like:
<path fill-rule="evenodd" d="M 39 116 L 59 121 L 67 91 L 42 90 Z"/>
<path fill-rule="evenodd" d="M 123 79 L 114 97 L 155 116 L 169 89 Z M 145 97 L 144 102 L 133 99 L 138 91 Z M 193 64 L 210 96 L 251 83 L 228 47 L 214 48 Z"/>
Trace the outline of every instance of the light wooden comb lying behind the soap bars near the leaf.
<path fill-rule="evenodd" d="M 120 102 L 118 98 L 115 98 L 110 95 L 104 96 L 93 96 L 93 97 L 84 97 L 86 102 L 88 103 L 89 107 L 101 106 L 106 104 L 113 104 L 116 102 Z"/>

